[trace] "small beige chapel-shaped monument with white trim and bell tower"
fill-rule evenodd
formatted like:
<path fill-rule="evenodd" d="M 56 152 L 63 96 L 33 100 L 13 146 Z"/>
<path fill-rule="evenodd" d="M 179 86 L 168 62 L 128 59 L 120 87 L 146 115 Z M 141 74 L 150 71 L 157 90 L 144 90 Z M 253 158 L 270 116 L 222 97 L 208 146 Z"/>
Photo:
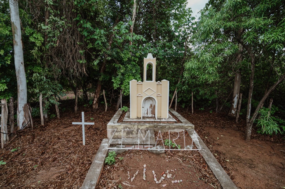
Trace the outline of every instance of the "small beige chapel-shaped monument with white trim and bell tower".
<path fill-rule="evenodd" d="M 147 78 L 148 65 L 152 67 L 151 78 Z M 130 118 L 168 118 L 169 81 L 156 82 L 155 75 L 156 58 L 148 53 L 144 58 L 144 81 L 130 81 Z"/>

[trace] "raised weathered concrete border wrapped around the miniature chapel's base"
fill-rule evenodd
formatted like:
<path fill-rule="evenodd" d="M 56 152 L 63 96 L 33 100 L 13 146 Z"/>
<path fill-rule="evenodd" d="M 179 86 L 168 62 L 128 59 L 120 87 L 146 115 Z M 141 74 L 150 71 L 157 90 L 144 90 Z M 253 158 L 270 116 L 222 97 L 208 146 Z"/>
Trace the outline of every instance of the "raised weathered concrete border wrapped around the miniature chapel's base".
<path fill-rule="evenodd" d="M 175 112 L 174 110 L 170 109 L 170 112 L 174 114 L 181 123 L 167 123 L 167 122 L 120 122 L 118 123 L 118 120 L 122 114 L 122 110 L 118 110 L 116 114 L 113 116 L 113 118 L 110 120 L 110 122 L 107 124 L 107 136 L 108 138 L 111 138 L 114 134 L 114 131 L 116 129 L 116 132 L 113 136 L 113 138 L 122 138 L 122 130 L 129 129 L 130 131 L 124 135 L 123 138 L 138 138 L 139 130 L 144 129 L 154 129 L 154 131 L 161 131 L 161 132 L 168 132 L 169 130 L 176 130 L 178 132 L 182 132 L 186 129 L 194 129 L 194 125 L 190 123 L 188 120 L 183 118 L 180 114 Z M 111 129 L 111 130 L 110 130 Z"/>

